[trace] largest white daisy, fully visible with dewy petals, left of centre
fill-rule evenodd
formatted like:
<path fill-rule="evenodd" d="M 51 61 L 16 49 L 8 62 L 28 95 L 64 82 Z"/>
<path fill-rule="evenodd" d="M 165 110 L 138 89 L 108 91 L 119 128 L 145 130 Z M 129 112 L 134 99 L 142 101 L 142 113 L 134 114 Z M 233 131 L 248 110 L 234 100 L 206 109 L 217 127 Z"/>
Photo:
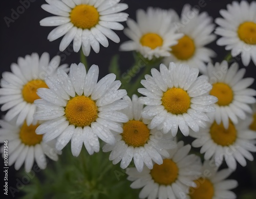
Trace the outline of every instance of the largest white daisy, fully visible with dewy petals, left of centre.
<path fill-rule="evenodd" d="M 38 89 L 41 99 L 36 100 L 38 107 L 34 117 L 48 120 L 41 124 L 36 133 L 44 134 L 46 142 L 57 138 L 56 148 L 61 150 L 71 140 L 73 156 L 78 156 L 82 145 L 89 154 L 99 151 L 99 140 L 114 144 L 113 132 L 121 133 L 118 122 L 127 122 L 126 115 L 118 112 L 127 106 L 120 100 L 127 95 L 125 90 L 118 90 L 120 81 L 116 75 L 109 74 L 98 83 L 99 68 L 92 65 L 88 73 L 82 63 L 72 64 L 67 75 L 57 71 L 58 78 L 46 78 L 50 89 Z"/>

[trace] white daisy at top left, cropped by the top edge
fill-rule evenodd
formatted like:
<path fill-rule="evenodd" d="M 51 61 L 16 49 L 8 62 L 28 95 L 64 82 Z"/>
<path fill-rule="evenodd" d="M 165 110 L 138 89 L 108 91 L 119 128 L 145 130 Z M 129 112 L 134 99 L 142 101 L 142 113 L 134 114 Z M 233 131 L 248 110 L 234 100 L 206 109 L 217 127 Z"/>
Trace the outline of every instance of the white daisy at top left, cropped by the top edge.
<path fill-rule="evenodd" d="M 88 56 L 92 49 L 98 53 L 101 44 L 109 46 L 108 38 L 118 43 L 117 34 L 113 30 L 123 30 L 119 23 L 125 21 L 128 14 L 121 11 L 127 4 L 119 4 L 120 0 L 46 0 L 48 4 L 42 9 L 57 16 L 50 16 L 40 21 L 41 26 L 58 26 L 48 35 L 53 41 L 65 35 L 59 45 L 64 51 L 73 40 L 73 48 L 78 52 L 82 47 L 83 54 Z"/>

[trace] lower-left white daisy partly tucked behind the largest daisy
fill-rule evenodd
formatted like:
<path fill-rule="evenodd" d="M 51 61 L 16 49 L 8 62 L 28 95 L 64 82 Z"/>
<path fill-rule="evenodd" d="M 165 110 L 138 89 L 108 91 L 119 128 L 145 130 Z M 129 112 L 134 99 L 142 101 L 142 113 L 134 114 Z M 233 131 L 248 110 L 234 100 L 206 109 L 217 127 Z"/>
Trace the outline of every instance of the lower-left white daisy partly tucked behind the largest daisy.
<path fill-rule="evenodd" d="M 47 160 L 45 155 L 50 159 L 57 161 L 60 154 L 52 145 L 42 141 L 42 135 L 36 135 L 35 129 L 37 124 L 27 125 L 26 122 L 22 125 L 16 125 L 15 122 L 7 122 L 0 120 L 0 143 L 8 141 L 8 164 L 14 164 L 16 170 L 25 163 L 26 172 L 30 172 L 34 161 L 38 167 L 45 169 Z M 1 147 L 2 156 L 4 156 L 5 145 Z"/>

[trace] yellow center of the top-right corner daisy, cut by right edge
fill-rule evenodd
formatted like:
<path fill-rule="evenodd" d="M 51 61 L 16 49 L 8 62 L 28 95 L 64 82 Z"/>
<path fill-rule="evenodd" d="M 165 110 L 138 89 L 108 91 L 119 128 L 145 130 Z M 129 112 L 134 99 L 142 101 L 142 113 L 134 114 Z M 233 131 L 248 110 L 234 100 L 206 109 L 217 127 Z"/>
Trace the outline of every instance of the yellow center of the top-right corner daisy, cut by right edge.
<path fill-rule="evenodd" d="M 252 21 L 246 21 L 238 27 L 239 38 L 250 45 L 256 44 L 256 24 Z"/>

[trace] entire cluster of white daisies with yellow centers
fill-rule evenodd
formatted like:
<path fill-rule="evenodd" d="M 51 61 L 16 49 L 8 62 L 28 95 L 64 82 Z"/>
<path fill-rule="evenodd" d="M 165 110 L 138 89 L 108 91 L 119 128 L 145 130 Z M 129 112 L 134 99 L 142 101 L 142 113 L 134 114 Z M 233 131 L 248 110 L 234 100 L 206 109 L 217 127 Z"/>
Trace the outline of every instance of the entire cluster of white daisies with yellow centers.
<path fill-rule="evenodd" d="M 142 95 L 127 96 L 121 81 L 108 74 L 98 81 L 99 68 L 82 63 L 59 66 L 48 53 L 19 57 L 1 79 L 0 142 L 8 140 L 9 165 L 44 169 L 46 156 L 58 160 L 71 143 L 74 157 L 84 146 L 89 154 L 110 152 L 113 164 L 126 169 L 140 198 L 236 198 L 236 180 L 226 180 L 237 162 L 246 166 L 256 152 L 256 91 L 245 69 L 227 61 L 211 63 L 220 46 L 256 64 L 256 3 L 233 2 L 221 10 L 215 29 L 206 12 L 185 5 L 181 17 L 172 9 L 137 11 L 137 22 L 123 13 L 120 0 L 46 0 L 42 9 L 56 15 L 41 26 L 57 26 L 48 39 L 63 36 L 59 50 L 73 41 L 75 52 L 98 53 L 108 39 L 120 42 L 113 30 L 131 40 L 122 51 L 137 51 L 162 63 L 141 80 Z M 188 19 L 188 20 L 185 20 Z M 186 21 L 186 23 L 184 23 Z M 202 75 L 201 75 L 202 74 Z M 132 85 L 129 85 L 132 86 Z M 182 135 L 195 140 L 184 145 Z M 178 139 L 179 138 L 179 139 Z M 100 149 L 100 143 L 103 143 Z M 200 147 L 204 162 L 190 152 Z M 4 152 L 4 146 L 1 148 Z M 226 169 L 219 167 L 226 163 Z M 135 167 L 132 167 L 134 165 Z"/>

